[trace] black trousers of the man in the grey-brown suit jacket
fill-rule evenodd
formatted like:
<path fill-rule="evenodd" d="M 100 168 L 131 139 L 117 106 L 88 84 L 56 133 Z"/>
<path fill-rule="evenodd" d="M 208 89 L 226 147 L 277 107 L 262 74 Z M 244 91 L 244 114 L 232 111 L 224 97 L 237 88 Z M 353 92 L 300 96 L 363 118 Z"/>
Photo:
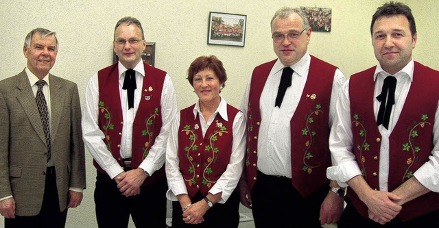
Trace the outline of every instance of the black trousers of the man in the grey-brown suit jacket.
<path fill-rule="evenodd" d="M 67 194 L 67 192 L 66 192 Z M 43 205 L 36 216 L 5 218 L 5 228 L 62 228 L 65 227 L 67 209 L 60 212 L 55 167 L 47 168 Z"/>

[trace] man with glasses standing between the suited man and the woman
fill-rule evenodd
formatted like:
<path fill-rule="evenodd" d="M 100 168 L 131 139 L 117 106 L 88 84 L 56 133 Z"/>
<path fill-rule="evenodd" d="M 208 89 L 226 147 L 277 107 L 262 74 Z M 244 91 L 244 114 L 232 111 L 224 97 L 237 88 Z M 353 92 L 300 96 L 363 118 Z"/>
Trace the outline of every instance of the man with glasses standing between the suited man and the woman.
<path fill-rule="evenodd" d="M 142 61 L 141 23 L 121 18 L 113 42 L 119 62 L 86 87 L 82 130 L 97 168 L 99 227 L 166 227 L 165 146 L 177 103 L 171 77 Z"/>

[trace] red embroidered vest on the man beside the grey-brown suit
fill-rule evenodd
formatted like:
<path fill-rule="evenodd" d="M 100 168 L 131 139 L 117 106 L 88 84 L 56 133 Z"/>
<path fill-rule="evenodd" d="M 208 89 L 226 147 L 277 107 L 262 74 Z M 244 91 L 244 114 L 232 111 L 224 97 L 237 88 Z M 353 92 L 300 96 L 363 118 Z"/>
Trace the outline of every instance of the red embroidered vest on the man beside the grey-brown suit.
<path fill-rule="evenodd" d="M 166 73 L 158 68 L 145 64 L 145 77 L 141 101 L 134 117 L 132 127 L 132 168 L 137 168 L 148 155 L 156 136 L 162 127 L 161 93 Z M 117 63 L 108 66 L 98 73 L 99 81 L 99 127 L 104 132 L 104 142 L 123 167 L 120 155 L 120 144 L 123 126 L 123 114 L 119 94 L 119 72 Z M 106 173 L 96 161 L 93 164 L 101 173 Z M 151 183 L 165 175 L 164 166 L 146 179 L 144 184 Z"/>

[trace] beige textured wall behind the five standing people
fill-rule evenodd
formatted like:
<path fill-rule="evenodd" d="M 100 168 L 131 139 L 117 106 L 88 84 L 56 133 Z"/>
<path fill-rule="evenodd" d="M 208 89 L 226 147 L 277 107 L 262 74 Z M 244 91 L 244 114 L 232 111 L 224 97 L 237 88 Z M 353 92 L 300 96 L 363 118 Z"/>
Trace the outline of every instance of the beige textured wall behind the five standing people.
<path fill-rule="evenodd" d="M 311 54 L 339 66 L 349 75 L 376 64 L 370 42 L 370 18 L 384 1 L 24 1 L 3 0 L 0 8 L 0 79 L 23 70 L 25 35 L 35 27 L 58 33 L 60 50 L 51 73 L 75 81 L 82 101 L 88 79 L 112 63 L 112 35 L 123 16 L 138 18 L 149 42 L 156 42 L 156 67 L 171 75 L 178 107 L 197 99 L 185 79 L 189 64 L 199 55 L 217 55 L 228 73 L 222 96 L 239 107 L 254 66 L 276 58 L 270 38 L 270 19 L 283 5 L 332 8 L 331 33 L 313 32 Z M 410 5 L 416 18 L 418 43 L 414 59 L 439 69 L 438 20 L 436 1 L 402 1 Z M 207 45 L 209 12 L 247 15 L 245 47 Z M 430 42 L 430 43 L 429 43 Z M 1 129 L 0 129 L 1 130 Z M 67 227 L 95 227 L 93 190 L 95 168 L 87 153 L 87 184 L 82 205 L 69 211 Z M 0 220 L 0 227 L 3 219 Z"/>

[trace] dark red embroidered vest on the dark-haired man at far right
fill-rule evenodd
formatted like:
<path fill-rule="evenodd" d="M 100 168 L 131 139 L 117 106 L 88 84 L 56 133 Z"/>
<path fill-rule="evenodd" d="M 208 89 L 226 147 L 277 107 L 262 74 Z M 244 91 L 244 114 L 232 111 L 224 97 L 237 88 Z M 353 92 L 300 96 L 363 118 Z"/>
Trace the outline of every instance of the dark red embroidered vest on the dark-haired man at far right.
<path fill-rule="evenodd" d="M 379 156 L 381 134 L 373 112 L 375 67 L 351 76 L 351 121 L 353 153 L 364 179 L 370 188 L 379 189 Z M 414 77 L 398 123 L 389 138 L 388 190 L 392 192 L 413 177 L 420 166 L 428 161 L 434 145 L 433 126 L 439 93 L 439 72 L 414 62 Z M 422 102 L 420 102 L 422 101 Z M 348 198 L 363 216 L 368 218 L 366 205 L 353 190 Z M 429 192 L 403 205 L 399 216 L 406 221 L 439 208 L 439 194 Z"/>

